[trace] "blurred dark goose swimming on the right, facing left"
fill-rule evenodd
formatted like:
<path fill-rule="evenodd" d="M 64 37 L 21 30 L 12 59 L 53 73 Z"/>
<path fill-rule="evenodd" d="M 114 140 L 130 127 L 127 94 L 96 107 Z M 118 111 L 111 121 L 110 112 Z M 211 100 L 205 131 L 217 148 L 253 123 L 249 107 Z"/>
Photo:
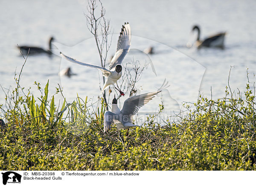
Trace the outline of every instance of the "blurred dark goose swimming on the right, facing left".
<path fill-rule="evenodd" d="M 220 48 L 224 48 L 224 38 L 226 35 L 226 32 L 220 32 L 216 35 L 212 35 L 204 40 L 200 40 L 200 28 L 199 26 L 195 25 L 192 28 L 192 32 L 197 30 L 198 31 L 198 36 L 197 36 L 197 40 L 195 43 L 195 46 L 197 46 L 198 48 L 201 47 L 220 47 Z"/>

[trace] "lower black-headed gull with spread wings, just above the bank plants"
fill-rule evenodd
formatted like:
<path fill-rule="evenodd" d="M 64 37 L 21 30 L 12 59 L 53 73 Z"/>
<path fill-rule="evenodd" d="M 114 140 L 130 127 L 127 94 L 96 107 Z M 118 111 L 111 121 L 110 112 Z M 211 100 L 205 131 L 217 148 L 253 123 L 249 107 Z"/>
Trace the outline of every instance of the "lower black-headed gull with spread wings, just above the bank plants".
<path fill-rule="evenodd" d="M 138 127 L 138 125 L 134 125 L 132 123 L 132 117 L 143 105 L 148 103 L 154 97 L 154 95 L 160 92 L 161 91 L 131 96 L 125 100 L 122 110 L 118 108 L 117 100 L 114 98 L 111 111 L 107 111 L 104 114 L 104 132 L 111 129 L 112 123 L 115 123 L 118 129 Z"/>

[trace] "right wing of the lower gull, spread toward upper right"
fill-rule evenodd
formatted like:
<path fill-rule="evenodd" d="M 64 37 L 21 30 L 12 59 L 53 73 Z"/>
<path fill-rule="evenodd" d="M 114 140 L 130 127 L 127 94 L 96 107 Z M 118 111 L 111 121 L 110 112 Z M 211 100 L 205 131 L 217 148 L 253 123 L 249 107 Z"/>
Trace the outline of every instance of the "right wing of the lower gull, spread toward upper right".
<path fill-rule="evenodd" d="M 148 103 L 152 98 L 154 98 L 154 95 L 160 92 L 161 91 L 131 96 L 125 100 L 121 113 L 123 115 L 134 116 L 143 105 Z"/>

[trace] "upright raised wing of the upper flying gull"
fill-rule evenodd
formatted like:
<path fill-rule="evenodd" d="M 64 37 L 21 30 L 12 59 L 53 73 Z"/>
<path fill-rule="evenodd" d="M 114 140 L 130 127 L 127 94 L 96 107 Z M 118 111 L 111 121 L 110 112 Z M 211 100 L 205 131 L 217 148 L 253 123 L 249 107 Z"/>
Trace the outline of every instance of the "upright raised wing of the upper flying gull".
<path fill-rule="evenodd" d="M 122 26 L 122 30 L 117 41 L 117 48 L 114 57 L 112 58 L 109 69 L 116 67 L 117 64 L 121 64 L 125 55 L 129 52 L 131 46 L 131 27 L 129 23 L 125 23 Z"/>

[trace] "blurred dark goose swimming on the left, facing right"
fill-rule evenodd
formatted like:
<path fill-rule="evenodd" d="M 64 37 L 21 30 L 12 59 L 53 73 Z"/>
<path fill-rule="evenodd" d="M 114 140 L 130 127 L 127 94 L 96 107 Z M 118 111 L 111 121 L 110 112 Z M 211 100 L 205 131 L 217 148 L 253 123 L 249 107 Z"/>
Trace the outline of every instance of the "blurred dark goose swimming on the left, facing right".
<path fill-rule="evenodd" d="M 54 40 L 53 37 L 51 37 L 49 39 L 49 49 L 43 49 L 43 48 L 37 47 L 37 46 L 19 46 L 19 48 L 24 55 L 26 55 L 28 52 L 30 55 L 34 55 L 34 54 L 49 54 L 49 55 L 51 55 L 53 40 Z"/>

